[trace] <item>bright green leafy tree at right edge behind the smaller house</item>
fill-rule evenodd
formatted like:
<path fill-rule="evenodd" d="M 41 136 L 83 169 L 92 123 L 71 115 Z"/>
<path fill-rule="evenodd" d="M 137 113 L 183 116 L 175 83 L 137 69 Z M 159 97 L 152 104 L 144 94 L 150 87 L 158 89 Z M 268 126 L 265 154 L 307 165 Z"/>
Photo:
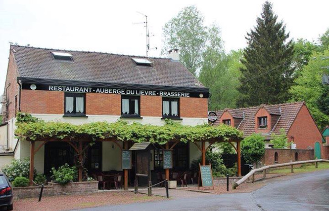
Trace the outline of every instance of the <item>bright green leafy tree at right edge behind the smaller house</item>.
<path fill-rule="evenodd" d="M 329 59 L 326 59 L 329 58 L 329 50 L 313 52 L 311 58 L 295 79 L 295 85 L 290 88 L 291 101 L 305 101 L 317 125 L 323 128 L 329 124 L 329 117 L 324 113 L 327 110 L 325 98 L 328 87 L 322 84 L 323 74 L 326 71 L 329 73 L 324 68 L 329 66 Z"/>

